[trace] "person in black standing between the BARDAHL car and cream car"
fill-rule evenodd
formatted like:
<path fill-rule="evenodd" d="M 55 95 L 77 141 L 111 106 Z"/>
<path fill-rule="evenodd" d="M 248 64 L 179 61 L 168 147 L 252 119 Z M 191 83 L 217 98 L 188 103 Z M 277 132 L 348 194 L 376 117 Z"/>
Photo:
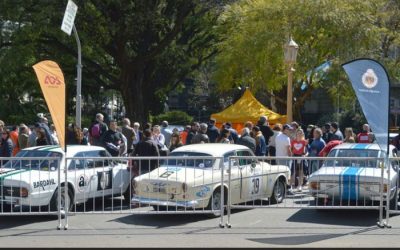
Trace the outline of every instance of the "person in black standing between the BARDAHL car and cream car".
<path fill-rule="evenodd" d="M 160 152 L 157 143 L 151 137 L 151 130 L 144 130 L 143 136 L 143 140 L 141 140 L 135 147 L 134 155 L 140 157 L 159 157 Z M 135 161 L 135 167 L 137 167 L 139 175 L 145 174 L 158 167 L 158 160 L 138 160 Z"/>

